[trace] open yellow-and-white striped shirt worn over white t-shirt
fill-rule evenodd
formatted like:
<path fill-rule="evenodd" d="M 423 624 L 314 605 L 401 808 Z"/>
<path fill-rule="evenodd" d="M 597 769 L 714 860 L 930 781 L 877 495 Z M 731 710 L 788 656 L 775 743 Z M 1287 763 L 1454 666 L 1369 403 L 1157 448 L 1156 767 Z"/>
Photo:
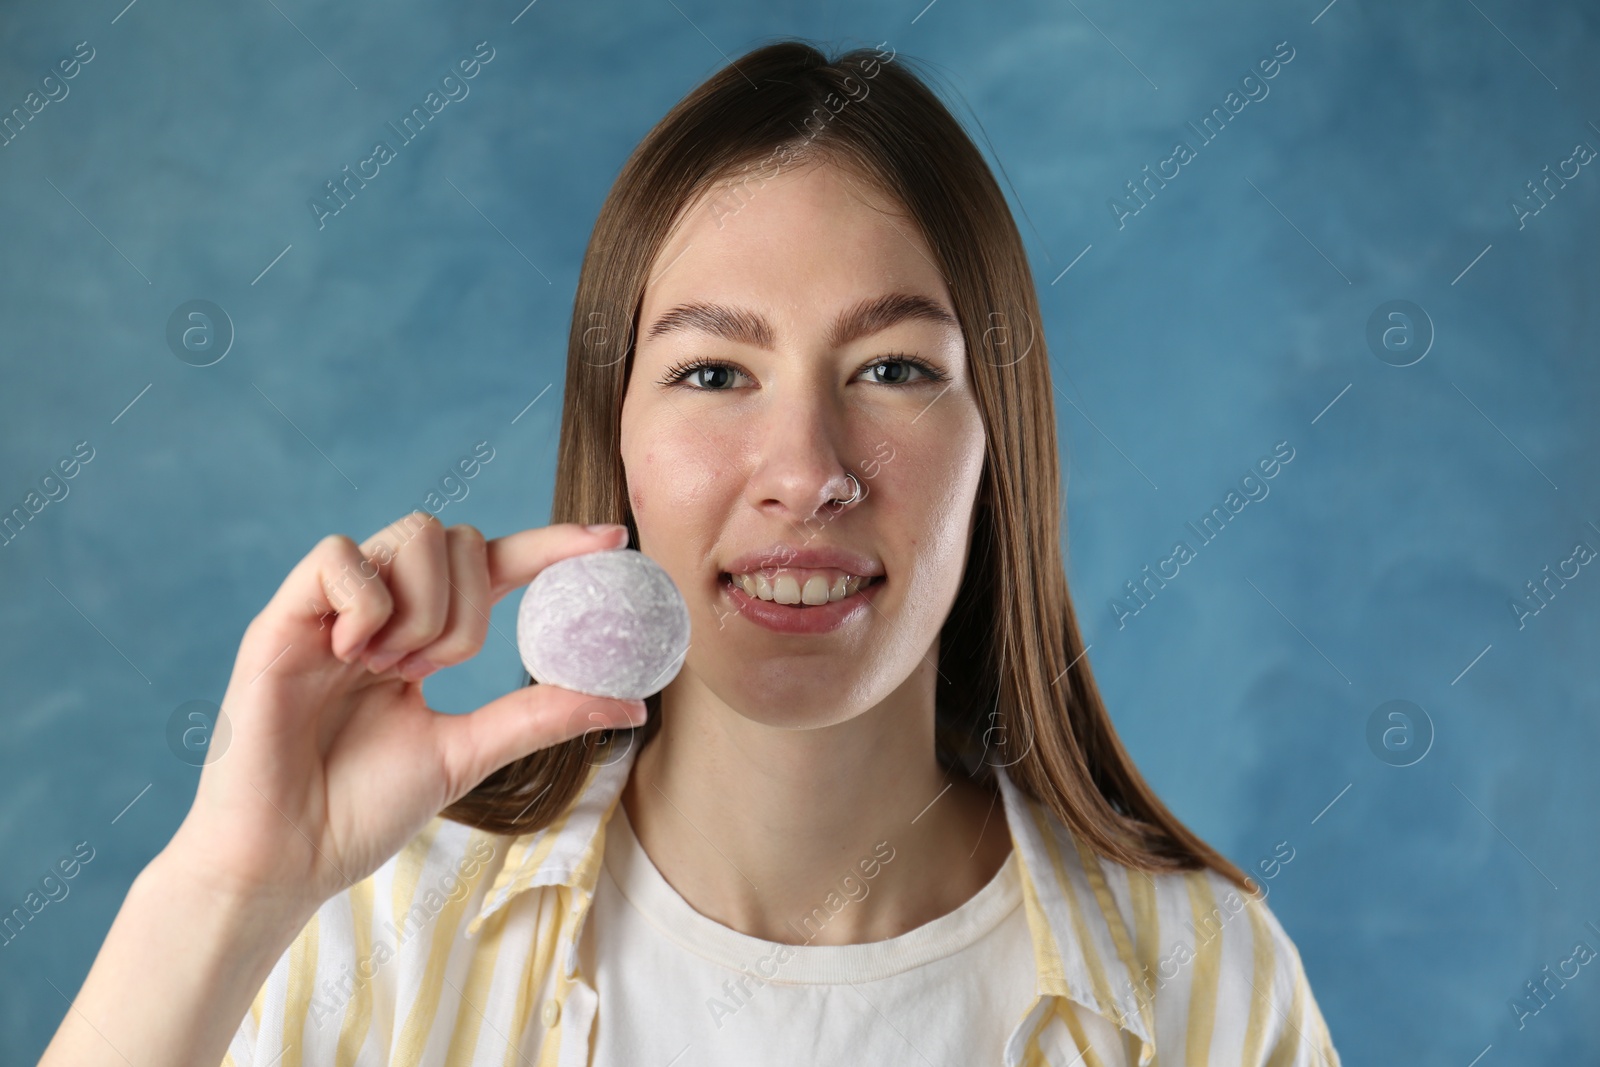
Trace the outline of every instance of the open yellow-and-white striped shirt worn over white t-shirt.
<path fill-rule="evenodd" d="M 602 1006 L 578 945 L 632 760 L 595 765 L 533 833 L 432 819 L 301 929 L 224 1067 L 587 1067 Z M 1101 859 L 997 777 L 1037 969 L 998 1062 L 1339 1067 L 1264 899 Z"/>

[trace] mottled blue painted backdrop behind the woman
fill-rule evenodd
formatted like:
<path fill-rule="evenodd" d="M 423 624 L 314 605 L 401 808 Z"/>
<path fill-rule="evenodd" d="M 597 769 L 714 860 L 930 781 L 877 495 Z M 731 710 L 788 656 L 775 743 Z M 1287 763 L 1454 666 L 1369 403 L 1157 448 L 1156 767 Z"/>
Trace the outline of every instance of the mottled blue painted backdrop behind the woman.
<path fill-rule="evenodd" d="M 1594 3 L 122 3 L 0 21 L 3 110 L 94 48 L 0 147 L 0 509 L 94 448 L 0 549 L 0 910 L 94 848 L 0 949 L 6 1062 L 189 805 L 168 718 L 221 697 L 299 557 L 482 440 L 440 517 L 547 522 L 600 202 L 672 102 L 790 34 L 928 61 L 982 123 L 1043 304 L 1091 662 L 1182 819 L 1245 867 L 1293 848 L 1270 902 L 1346 1062 L 1600 1061 L 1600 968 L 1523 1029 L 1509 1008 L 1600 949 L 1600 574 L 1510 608 L 1600 549 L 1600 163 L 1523 227 L 1509 206 L 1600 147 Z M 307 200 L 480 40 L 470 94 L 318 230 Z M 1278 42 L 1270 94 L 1118 227 L 1109 200 Z M 190 299 L 237 330 L 213 366 L 166 344 Z M 1395 299 L 1434 334 L 1403 368 L 1366 339 Z M 1270 494 L 1200 545 L 1186 523 L 1278 442 Z M 1178 539 L 1195 558 L 1118 625 Z M 435 705 L 520 680 L 514 608 Z M 1390 699 L 1432 723 L 1411 766 L 1368 744 Z"/>

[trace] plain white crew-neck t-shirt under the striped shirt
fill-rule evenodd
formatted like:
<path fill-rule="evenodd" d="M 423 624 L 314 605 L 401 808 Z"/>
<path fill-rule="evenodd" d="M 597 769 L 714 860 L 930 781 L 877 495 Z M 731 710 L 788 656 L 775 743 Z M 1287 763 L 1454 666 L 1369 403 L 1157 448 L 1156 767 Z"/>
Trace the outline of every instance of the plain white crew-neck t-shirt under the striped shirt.
<path fill-rule="evenodd" d="M 898 937 L 779 945 L 696 912 L 621 803 L 579 955 L 598 993 L 597 1067 L 997 1064 L 1035 1000 L 1014 851 L 970 901 Z"/>

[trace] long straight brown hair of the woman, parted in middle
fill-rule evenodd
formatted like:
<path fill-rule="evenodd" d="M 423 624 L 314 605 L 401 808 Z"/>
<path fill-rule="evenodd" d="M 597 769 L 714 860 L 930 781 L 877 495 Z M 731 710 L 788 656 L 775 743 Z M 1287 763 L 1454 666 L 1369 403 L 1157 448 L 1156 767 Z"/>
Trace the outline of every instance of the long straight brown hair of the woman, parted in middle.
<path fill-rule="evenodd" d="M 578 277 L 550 522 L 621 522 L 638 544 L 619 427 L 648 270 L 702 194 L 733 182 L 709 205 L 738 210 L 779 170 L 810 162 L 842 166 L 920 226 L 987 429 L 966 573 L 939 635 L 941 763 L 981 782 L 1005 766 L 1107 859 L 1147 872 L 1210 867 L 1251 891 L 1155 797 L 1112 728 L 1067 595 L 1050 357 L 1027 254 L 981 152 L 904 56 L 856 48 L 829 61 L 803 42 L 771 43 L 693 90 L 638 144 Z M 646 705 L 635 744 L 659 723 L 659 693 Z M 533 752 L 443 816 L 494 833 L 549 825 L 610 744 L 597 749 L 590 734 Z"/>

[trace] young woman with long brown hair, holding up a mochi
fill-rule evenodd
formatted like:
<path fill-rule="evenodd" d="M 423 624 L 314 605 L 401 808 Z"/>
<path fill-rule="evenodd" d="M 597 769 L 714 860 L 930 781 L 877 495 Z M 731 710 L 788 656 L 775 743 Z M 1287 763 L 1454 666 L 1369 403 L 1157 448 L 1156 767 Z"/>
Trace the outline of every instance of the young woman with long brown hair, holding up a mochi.
<path fill-rule="evenodd" d="M 557 525 L 301 560 L 45 1064 L 1338 1064 L 1099 699 L 1037 323 L 902 58 L 714 75 L 595 226 Z M 490 603 L 624 544 L 690 605 L 670 685 L 427 709 Z"/>

